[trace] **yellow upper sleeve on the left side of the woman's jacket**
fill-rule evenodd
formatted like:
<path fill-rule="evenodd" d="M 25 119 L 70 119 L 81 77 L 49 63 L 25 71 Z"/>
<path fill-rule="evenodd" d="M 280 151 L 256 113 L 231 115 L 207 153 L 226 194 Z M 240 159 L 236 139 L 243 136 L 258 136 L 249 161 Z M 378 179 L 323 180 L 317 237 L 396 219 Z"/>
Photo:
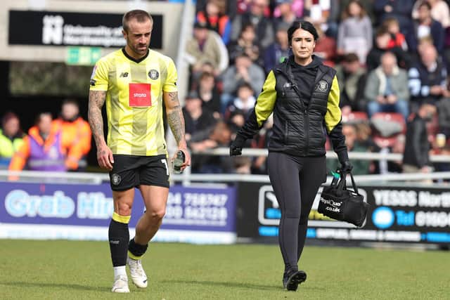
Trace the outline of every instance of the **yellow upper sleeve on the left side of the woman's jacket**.
<path fill-rule="evenodd" d="M 274 71 L 270 71 L 267 75 L 266 81 L 264 81 L 262 92 L 259 94 L 255 105 L 255 115 L 259 127 L 262 126 L 262 123 L 264 123 L 272 111 L 274 111 L 276 102 L 275 85 L 276 79 Z"/>

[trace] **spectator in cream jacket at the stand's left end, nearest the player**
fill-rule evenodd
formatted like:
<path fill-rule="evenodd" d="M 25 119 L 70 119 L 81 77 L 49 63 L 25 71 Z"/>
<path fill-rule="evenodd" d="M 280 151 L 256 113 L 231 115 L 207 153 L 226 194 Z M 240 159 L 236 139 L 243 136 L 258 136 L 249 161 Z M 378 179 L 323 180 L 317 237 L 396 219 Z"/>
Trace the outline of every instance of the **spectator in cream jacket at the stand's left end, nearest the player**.
<path fill-rule="evenodd" d="M 206 23 L 195 22 L 193 39 L 186 44 L 186 60 L 191 65 L 191 72 L 195 78 L 200 76 L 201 67 L 206 62 L 212 64 L 214 72 L 219 70 L 221 50 L 213 34 L 214 32 L 207 29 Z"/>

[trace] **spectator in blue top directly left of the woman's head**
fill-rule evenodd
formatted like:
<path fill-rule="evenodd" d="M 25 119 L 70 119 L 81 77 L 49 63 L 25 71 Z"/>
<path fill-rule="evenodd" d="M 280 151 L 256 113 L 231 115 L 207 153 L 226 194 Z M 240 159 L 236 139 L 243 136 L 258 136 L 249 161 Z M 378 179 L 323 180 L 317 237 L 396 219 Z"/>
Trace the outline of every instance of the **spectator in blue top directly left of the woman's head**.
<path fill-rule="evenodd" d="M 278 63 L 283 62 L 289 56 L 288 28 L 284 22 L 279 22 L 276 27 L 274 44 L 269 45 L 264 52 L 264 71 L 269 71 Z"/>

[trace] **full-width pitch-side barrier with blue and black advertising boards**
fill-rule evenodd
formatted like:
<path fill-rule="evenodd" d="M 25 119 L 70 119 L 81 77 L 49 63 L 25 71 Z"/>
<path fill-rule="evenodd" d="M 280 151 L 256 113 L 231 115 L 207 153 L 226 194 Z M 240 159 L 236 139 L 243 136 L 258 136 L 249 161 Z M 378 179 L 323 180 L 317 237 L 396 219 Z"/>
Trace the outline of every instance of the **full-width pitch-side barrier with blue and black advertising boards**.
<path fill-rule="evenodd" d="M 227 151 L 218 149 L 208 154 L 227 155 Z M 264 155 L 264 152 L 244 150 L 243 155 Z M 350 152 L 349 157 L 401 159 L 401 155 L 395 154 L 357 152 Z M 431 160 L 448 162 L 448 158 L 432 156 Z M 10 176 L 18 180 L 8 181 Z M 156 240 L 276 242 L 281 212 L 268 176 L 190 174 L 187 169 L 184 174 L 172 174 L 170 178 L 167 214 Z M 364 201 L 371 205 L 362 228 L 319 214 L 319 190 L 309 215 L 307 236 L 310 241 L 339 244 L 448 247 L 450 185 L 445 179 L 450 179 L 450 172 L 355 176 Z M 0 237 L 106 240 L 113 211 L 108 181 L 108 174 L 0 171 Z M 142 211 L 142 200 L 136 193 L 131 234 L 133 222 Z"/>

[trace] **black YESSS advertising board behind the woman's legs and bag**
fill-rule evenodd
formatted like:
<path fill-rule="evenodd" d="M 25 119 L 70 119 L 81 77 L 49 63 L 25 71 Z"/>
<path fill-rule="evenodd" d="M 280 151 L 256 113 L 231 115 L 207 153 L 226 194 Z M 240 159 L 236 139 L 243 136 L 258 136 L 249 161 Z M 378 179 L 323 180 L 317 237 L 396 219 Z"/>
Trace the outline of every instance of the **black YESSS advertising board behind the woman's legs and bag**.
<path fill-rule="evenodd" d="M 307 237 L 357 242 L 450 243 L 450 188 L 361 186 L 358 190 L 371 205 L 364 226 L 356 228 L 319 214 L 319 189 L 309 214 Z M 238 237 L 266 240 L 278 236 L 281 213 L 270 184 L 239 183 L 237 206 Z"/>

